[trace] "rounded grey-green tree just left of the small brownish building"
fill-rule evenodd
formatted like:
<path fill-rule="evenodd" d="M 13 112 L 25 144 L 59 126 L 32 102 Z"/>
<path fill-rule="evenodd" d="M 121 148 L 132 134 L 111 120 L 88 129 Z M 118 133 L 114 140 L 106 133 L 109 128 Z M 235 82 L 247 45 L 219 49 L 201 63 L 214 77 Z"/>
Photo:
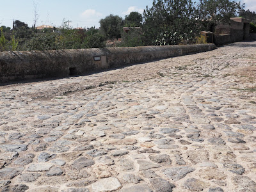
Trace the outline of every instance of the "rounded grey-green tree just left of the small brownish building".
<path fill-rule="evenodd" d="M 122 17 L 118 15 L 109 15 L 100 20 L 100 31 L 109 39 L 120 38 L 122 30 Z"/>

